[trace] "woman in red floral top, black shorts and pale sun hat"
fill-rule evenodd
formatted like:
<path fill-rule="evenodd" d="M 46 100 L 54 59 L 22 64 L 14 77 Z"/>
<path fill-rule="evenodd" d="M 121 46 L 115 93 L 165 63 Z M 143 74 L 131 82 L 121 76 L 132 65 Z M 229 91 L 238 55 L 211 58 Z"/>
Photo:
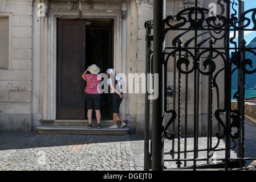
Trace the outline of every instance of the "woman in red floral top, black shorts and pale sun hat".
<path fill-rule="evenodd" d="M 86 74 L 89 71 L 91 74 Z M 97 119 L 97 128 L 100 129 L 100 89 L 99 82 L 101 81 L 100 75 L 97 73 L 100 72 L 95 64 L 92 64 L 86 69 L 83 73 L 82 78 L 86 81 L 86 109 L 87 109 L 87 118 L 88 118 L 88 128 L 92 128 L 92 109 L 95 109 L 96 119 Z"/>

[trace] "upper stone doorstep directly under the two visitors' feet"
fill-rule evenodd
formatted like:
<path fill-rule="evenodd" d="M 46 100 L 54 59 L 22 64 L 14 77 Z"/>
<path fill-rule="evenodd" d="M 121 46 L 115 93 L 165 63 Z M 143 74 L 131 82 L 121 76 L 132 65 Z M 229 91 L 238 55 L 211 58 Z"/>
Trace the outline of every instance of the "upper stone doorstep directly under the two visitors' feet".
<path fill-rule="evenodd" d="M 129 121 L 124 120 L 127 124 Z M 113 120 L 102 120 L 101 125 L 111 126 L 113 125 Z M 117 120 L 117 125 L 120 126 L 121 121 Z M 40 126 L 87 126 L 88 120 L 86 119 L 56 119 L 56 120 L 41 120 Z M 96 120 L 92 120 L 92 125 L 97 125 Z"/>

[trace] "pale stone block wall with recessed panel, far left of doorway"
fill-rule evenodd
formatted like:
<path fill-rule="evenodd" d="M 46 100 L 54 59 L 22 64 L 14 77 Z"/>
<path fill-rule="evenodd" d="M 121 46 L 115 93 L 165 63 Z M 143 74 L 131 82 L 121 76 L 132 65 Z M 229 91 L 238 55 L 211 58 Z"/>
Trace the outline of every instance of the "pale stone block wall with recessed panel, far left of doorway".
<path fill-rule="evenodd" d="M 0 69 L 0 130 L 30 131 L 32 0 L 1 0 L 0 5 L 0 18 L 9 21 L 9 52 L 0 50 L 8 54 L 8 67 Z"/>

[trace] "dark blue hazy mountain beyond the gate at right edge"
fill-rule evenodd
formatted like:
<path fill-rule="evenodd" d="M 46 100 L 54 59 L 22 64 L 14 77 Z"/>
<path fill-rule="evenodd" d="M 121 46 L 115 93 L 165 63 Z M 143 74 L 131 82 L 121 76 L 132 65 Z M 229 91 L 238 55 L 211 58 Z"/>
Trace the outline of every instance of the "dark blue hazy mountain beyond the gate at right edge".
<path fill-rule="evenodd" d="M 246 46 L 246 48 L 256 48 L 256 37 L 251 40 L 251 42 Z M 255 51 L 255 50 L 254 50 Z M 248 67 L 248 70 L 253 70 L 256 68 L 256 56 L 254 56 L 251 52 L 245 53 L 245 58 L 253 61 L 253 68 Z M 237 71 L 235 71 L 232 75 L 232 89 L 237 89 Z M 246 74 L 245 75 L 245 89 L 246 90 L 256 90 L 256 73 Z"/>

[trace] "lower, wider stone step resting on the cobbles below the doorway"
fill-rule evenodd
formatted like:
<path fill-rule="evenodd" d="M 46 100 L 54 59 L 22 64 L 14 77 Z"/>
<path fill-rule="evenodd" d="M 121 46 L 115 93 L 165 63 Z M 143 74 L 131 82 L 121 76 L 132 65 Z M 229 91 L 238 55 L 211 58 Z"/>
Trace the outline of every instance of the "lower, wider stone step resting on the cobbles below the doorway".
<path fill-rule="evenodd" d="M 39 134 L 69 134 L 69 135 L 127 135 L 129 127 L 123 129 L 109 129 L 102 127 L 97 129 L 97 126 L 92 125 L 92 129 L 87 126 L 38 126 L 36 131 Z"/>

